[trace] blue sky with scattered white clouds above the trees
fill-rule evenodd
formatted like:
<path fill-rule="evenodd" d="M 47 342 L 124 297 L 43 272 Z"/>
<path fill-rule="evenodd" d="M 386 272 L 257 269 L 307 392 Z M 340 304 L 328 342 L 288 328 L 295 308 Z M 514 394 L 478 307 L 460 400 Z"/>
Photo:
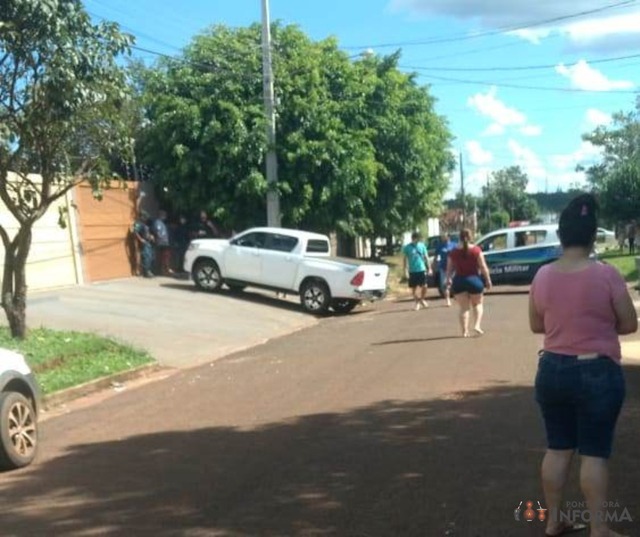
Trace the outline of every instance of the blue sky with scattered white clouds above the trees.
<path fill-rule="evenodd" d="M 598 159 L 581 134 L 634 107 L 640 0 L 271 0 L 272 20 L 350 54 L 402 49 L 401 66 L 431 86 L 462 152 L 466 186 L 518 164 L 530 191 L 582 182 Z M 260 0 L 86 0 L 137 45 L 180 53 L 213 24 L 260 21 Z M 137 52 L 153 61 L 148 53 Z M 634 57 L 637 55 L 637 57 Z M 451 192 L 459 188 L 457 175 Z"/>

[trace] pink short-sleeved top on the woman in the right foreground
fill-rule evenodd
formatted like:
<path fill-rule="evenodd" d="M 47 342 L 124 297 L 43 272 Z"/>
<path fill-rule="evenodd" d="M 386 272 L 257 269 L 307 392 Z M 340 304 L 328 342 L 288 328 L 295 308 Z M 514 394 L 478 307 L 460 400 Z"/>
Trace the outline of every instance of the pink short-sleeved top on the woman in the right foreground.
<path fill-rule="evenodd" d="M 580 272 L 542 267 L 531 296 L 544 319 L 544 349 L 559 354 L 599 353 L 621 361 L 613 302 L 628 293 L 616 268 L 593 263 Z"/>

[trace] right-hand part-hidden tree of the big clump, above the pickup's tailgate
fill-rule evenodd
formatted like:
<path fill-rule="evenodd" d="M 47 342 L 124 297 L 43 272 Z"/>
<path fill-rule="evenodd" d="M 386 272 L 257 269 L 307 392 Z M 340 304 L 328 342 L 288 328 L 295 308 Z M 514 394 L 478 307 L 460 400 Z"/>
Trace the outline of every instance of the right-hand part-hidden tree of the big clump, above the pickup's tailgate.
<path fill-rule="evenodd" d="M 451 134 L 435 100 L 413 74 L 398 69 L 399 53 L 356 63 L 368 82 L 362 118 L 378 162 L 368 214 L 374 237 L 390 237 L 441 213 L 454 168 Z"/>

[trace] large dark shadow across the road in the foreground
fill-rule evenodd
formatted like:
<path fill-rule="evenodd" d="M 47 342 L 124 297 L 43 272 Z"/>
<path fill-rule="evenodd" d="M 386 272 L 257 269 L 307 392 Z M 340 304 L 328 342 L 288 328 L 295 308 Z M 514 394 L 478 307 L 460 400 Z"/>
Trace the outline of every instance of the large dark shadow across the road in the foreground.
<path fill-rule="evenodd" d="M 628 369 L 612 500 L 638 520 L 640 372 Z M 513 511 L 520 501 L 543 503 L 543 442 L 532 389 L 502 386 L 258 428 L 77 445 L 0 482 L 2 532 L 542 535 L 541 523 L 516 522 Z M 581 498 L 575 483 L 574 471 L 569 500 Z"/>

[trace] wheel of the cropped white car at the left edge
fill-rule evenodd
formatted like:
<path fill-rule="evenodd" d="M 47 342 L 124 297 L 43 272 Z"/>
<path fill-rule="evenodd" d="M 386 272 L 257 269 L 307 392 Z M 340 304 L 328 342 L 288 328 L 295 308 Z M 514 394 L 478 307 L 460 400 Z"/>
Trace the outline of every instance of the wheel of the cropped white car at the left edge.
<path fill-rule="evenodd" d="M 29 465 L 38 451 L 38 423 L 31 401 L 18 392 L 0 393 L 0 468 Z"/>

